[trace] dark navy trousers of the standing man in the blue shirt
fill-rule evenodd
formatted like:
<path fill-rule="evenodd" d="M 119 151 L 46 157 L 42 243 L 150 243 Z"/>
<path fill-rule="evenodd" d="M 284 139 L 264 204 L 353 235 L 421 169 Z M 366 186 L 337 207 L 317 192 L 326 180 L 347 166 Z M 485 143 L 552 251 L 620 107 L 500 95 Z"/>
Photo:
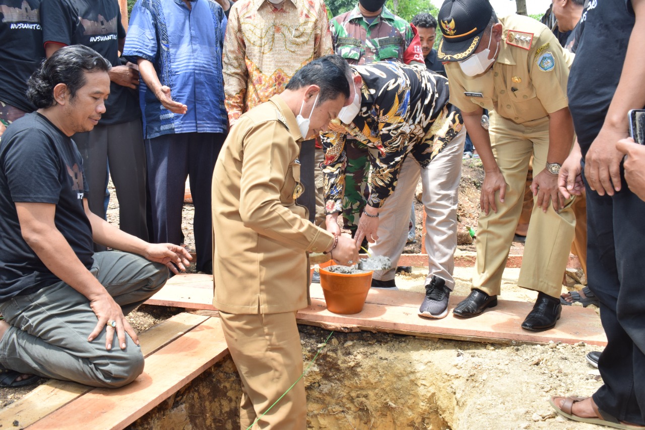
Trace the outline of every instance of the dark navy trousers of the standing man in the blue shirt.
<path fill-rule="evenodd" d="M 224 139 L 224 133 L 166 134 L 146 139 L 151 241 L 181 243 L 181 211 L 186 176 L 189 176 L 190 194 L 195 205 L 193 232 L 197 271 L 209 273 L 213 270 L 211 182 Z"/>

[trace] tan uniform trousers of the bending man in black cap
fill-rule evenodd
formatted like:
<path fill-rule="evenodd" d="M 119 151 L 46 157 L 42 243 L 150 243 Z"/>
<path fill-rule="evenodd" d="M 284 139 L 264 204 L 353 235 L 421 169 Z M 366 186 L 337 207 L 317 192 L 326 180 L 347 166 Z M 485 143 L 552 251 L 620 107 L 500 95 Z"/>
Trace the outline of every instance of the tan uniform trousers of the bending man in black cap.
<path fill-rule="evenodd" d="M 497 212 L 481 212 L 477 223 L 477 263 L 473 289 L 489 295 L 500 293 L 502 272 L 506 267 L 515 227 L 522 212 L 524 185 L 533 156 L 533 178 L 546 165 L 549 148 L 549 120 L 537 119 L 519 125 L 499 115 L 490 116 L 493 155 L 506 181 L 506 198 Z M 573 142 L 572 142 L 573 143 Z M 575 230 L 571 201 L 559 213 L 549 205 L 546 213 L 533 207 L 526 234 L 522 269 L 517 285 L 559 297 L 562 274 L 566 269 Z"/>

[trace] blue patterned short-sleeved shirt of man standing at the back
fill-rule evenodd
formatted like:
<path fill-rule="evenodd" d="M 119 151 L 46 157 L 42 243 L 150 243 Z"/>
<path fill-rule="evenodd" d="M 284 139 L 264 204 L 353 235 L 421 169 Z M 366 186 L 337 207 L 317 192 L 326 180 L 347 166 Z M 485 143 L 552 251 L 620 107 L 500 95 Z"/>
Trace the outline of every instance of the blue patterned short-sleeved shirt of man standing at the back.
<path fill-rule="evenodd" d="M 132 9 L 123 56 L 150 61 L 174 101 L 188 107 L 175 114 L 139 85 L 145 138 L 175 133 L 228 131 L 224 108 L 222 46 L 226 17 L 214 0 L 139 0 Z"/>

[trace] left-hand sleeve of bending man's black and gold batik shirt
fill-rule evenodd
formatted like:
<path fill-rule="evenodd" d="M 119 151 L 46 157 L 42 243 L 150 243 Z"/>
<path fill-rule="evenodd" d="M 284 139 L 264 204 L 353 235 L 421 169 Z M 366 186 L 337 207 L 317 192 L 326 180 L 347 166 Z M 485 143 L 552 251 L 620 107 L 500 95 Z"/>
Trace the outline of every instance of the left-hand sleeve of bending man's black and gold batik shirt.
<path fill-rule="evenodd" d="M 337 120 L 336 120 L 337 121 Z M 323 198 L 326 214 L 342 212 L 342 198 L 345 195 L 346 136 L 341 132 L 321 133 L 324 151 Z"/>

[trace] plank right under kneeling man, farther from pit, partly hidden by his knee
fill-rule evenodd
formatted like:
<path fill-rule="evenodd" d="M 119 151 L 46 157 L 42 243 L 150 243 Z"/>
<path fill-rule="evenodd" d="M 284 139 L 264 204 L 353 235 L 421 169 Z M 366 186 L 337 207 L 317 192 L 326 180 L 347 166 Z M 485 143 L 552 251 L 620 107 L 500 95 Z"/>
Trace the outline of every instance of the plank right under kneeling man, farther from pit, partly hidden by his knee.
<path fill-rule="evenodd" d="M 208 316 L 181 313 L 139 334 L 143 356 L 149 356 L 207 319 Z M 49 380 L 1 409 L 0 427 L 12 428 L 15 420 L 21 427 L 26 427 L 91 389 L 75 382 Z"/>

